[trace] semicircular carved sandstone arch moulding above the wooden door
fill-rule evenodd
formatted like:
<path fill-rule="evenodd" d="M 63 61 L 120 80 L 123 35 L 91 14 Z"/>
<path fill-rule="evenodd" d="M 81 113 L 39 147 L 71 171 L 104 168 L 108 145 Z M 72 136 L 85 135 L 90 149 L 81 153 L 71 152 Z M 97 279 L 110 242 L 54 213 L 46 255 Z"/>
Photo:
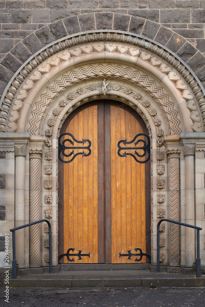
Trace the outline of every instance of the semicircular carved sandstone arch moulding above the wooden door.
<path fill-rule="evenodd" d="M 101 89 L 104 78 L 109 79 L 106 92 Z M 118 83 L 116 90 L 113 85 Z M 139 91 L 140 99 L 136 98 Z M 66 113 L 97 95 L 132 103 L 152 127 L 157 127 L 156 119 L 151 122 L 157 114 L 165 134 L 204 131 L 203 87 L 190 68 L 154 41 L 107 30 L 63 38 L 25 62 L 2 97 L 0 131 L 45 134 L 48 120 L 53 119 L 56 125 L 49 130 L 56 137 Z"/>

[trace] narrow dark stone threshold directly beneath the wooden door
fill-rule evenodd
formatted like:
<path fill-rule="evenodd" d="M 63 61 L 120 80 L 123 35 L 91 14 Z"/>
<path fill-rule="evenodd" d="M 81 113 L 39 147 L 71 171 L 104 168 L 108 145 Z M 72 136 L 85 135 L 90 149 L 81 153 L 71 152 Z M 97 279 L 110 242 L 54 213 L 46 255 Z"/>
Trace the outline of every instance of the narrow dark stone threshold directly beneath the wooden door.
<path fill-rule="evenodd" d="M 149 270 L 149 263 L 63 263 L 62 271 L 66 270 Z"/>

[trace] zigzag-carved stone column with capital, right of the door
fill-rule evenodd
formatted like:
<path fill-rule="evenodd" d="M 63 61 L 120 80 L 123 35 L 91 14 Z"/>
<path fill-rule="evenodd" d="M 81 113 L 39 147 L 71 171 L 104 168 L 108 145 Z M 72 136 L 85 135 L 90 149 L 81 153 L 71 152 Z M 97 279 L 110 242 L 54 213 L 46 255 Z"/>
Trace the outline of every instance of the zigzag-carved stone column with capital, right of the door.
<path fill-rule="evenodd" d="M 169 160 L 169 218 L 180 222 L 180 173 L 177 150 L 167 152 Z M 170 265 L 180 265 L 180 226 L 170 223 Z"/>

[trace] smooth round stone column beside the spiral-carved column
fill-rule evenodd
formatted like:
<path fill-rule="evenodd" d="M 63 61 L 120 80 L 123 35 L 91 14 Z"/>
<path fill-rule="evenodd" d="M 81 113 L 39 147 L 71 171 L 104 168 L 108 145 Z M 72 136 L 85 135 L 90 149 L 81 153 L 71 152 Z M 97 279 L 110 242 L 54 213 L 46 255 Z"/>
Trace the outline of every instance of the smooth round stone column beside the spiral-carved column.
<path fill-rule="evenodd" d="M 24 193 L 25 193 L 25 157 L 27 143 L 15 143 L 15 227 L 25 224 Z M 16 259 L 20 267 L 24 267 L 24 235 L 25 229 L 16 231 Z"/>

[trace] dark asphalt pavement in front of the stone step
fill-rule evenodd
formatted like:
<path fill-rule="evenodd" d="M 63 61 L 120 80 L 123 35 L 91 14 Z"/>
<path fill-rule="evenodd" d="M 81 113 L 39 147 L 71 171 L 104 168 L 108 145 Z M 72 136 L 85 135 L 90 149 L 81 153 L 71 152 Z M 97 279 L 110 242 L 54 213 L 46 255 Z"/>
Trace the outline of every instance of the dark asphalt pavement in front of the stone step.
<path fill-rule="evenodd" d="M 11 307 L 204 307 L 204 287 L 183 288 L 0 288 L 0 306 Z"/>

